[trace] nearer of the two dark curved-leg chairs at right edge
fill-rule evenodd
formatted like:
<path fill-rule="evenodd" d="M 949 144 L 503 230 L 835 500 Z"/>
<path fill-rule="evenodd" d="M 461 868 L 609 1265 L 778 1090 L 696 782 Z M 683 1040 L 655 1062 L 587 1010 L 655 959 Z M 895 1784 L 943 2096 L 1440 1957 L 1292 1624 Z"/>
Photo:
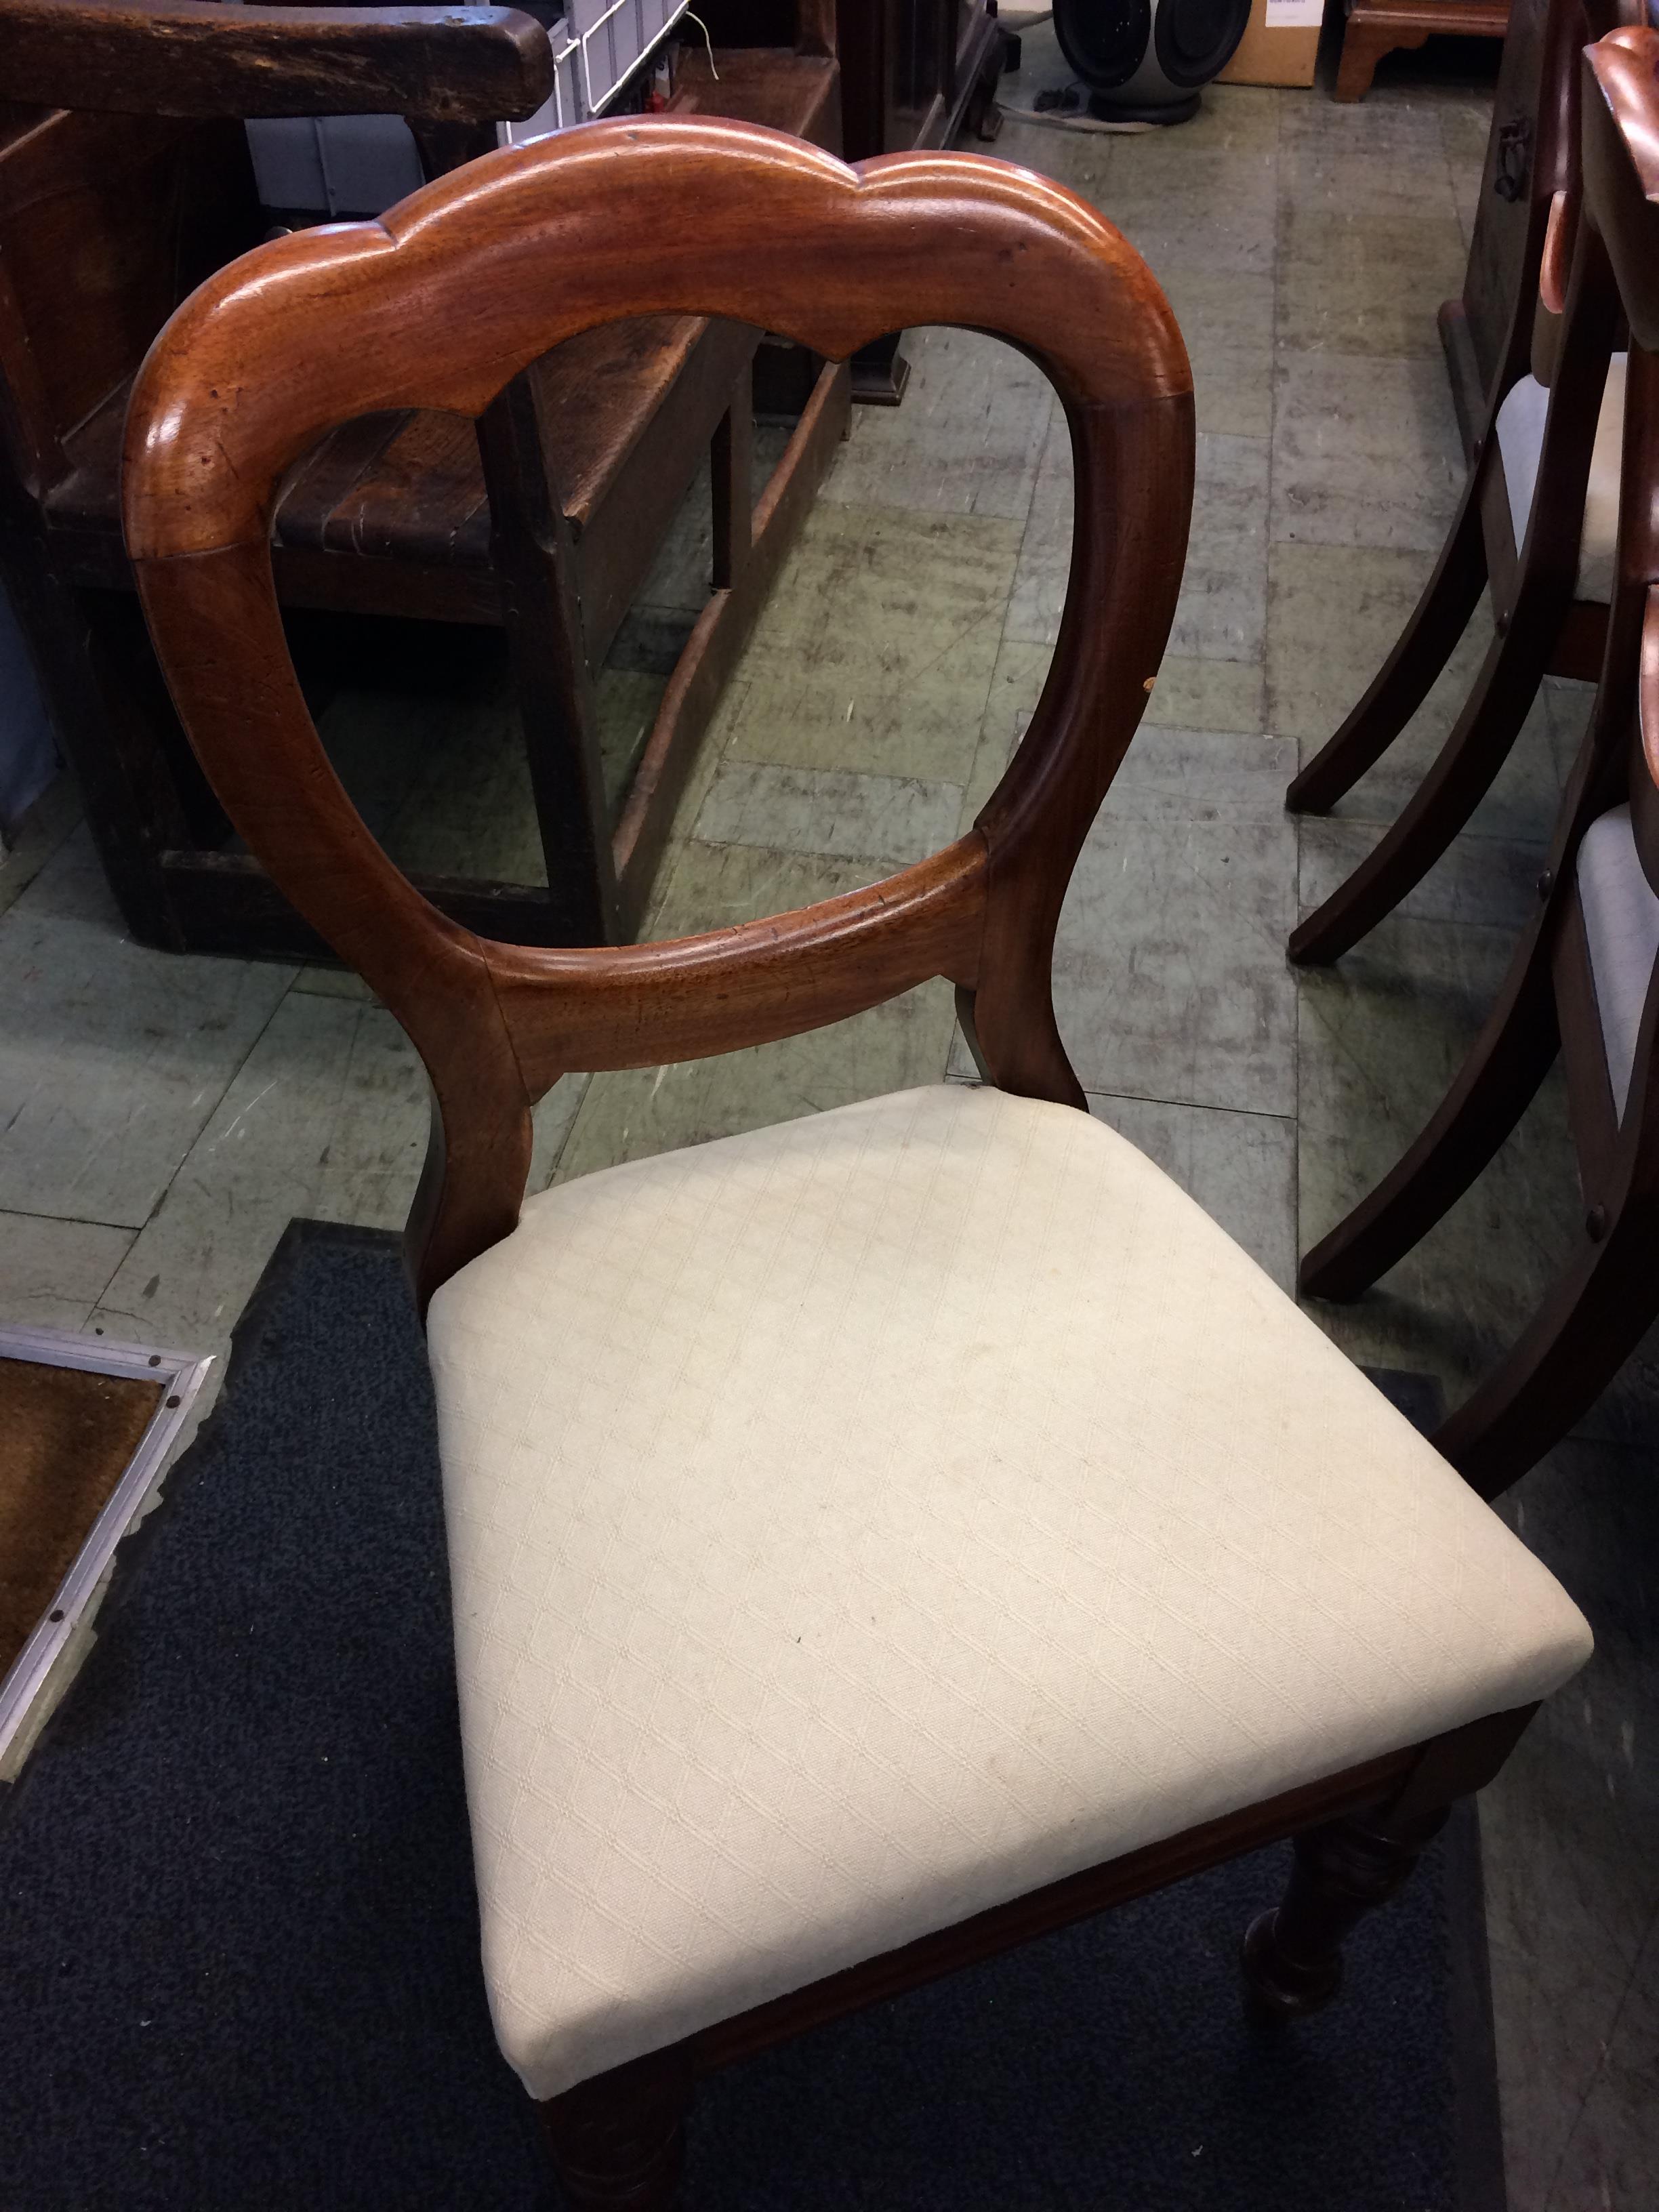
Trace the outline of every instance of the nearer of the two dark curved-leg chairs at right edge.
<path fill-rule="evenodd" d="M 1630 325 L 1617 573 L 1590 728 L 1562 796 L 1540 909 L 1469 1057 L 1391 1175 L 1301 1270 L 1356 1298 L 1469 1188 L 1566 1064 L 1584 1237 L 1524 1336 L 1436 1433 L 1484 1495 L 1524 1475 L 1659 1316 L 1659 33 L 1584 55 L 1586 204 L 1575 290 Z"/>

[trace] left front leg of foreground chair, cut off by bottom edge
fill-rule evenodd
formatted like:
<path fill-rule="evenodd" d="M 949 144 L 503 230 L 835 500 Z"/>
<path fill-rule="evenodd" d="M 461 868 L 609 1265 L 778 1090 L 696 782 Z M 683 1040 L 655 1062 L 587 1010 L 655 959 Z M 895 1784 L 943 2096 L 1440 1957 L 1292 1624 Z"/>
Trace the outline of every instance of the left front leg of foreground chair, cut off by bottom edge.
<path fill-rule="evenodd" d="M 695 2073 L 684 2046 L 615 2066 L 538 2106 L 571 2212 L 668 2212 Z"/>

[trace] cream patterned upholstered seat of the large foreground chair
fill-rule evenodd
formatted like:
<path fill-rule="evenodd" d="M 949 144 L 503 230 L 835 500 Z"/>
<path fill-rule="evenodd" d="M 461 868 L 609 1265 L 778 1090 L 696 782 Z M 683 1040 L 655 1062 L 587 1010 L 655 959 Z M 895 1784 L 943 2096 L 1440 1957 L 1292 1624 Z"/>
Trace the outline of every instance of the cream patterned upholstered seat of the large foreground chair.
<path fill-rule="evenodd" d="M 429 1345 L 484 1969 L 535 2097 L 1588 1652 L 1068 1106 L 940 1084 L 588 1175 Z"/>

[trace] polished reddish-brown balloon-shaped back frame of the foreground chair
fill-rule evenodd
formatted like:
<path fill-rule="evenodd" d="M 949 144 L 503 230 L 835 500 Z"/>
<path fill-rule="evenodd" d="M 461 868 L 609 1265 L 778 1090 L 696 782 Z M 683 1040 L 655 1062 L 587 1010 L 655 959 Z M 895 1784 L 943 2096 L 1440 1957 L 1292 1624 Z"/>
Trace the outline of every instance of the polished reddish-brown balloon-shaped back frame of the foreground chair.
<path fill-rule="evenodd" d="M 679 942 L 500 945 L 420 898 L 327 765 L 276 611 L 272 502 L 336 422 L 478 416 L 538 354 L 630 314 L 730 316 L 830 358 L 911 323 L 1011 341 L 1071 422 L 1066 611 L 1031 728 L 947 852 Z M 1175 613 L 1192 376 L 1146 263 L 1062 186 L 969 155 L 849 170 L 743 124 L 588 124 L 471 164 L 376 223 L 276 239 L 221 270 L 139 372 L 124 471 L 144 608 L 219 801 L 431 1077 L 411 1219 L 422 1301 L 515 1225 L 531 1108 L 575 1068 L 734 1051 L 949 975 L 991 1082 L 1082 1106 L 1053 1018 L 1053 936 Z"/>

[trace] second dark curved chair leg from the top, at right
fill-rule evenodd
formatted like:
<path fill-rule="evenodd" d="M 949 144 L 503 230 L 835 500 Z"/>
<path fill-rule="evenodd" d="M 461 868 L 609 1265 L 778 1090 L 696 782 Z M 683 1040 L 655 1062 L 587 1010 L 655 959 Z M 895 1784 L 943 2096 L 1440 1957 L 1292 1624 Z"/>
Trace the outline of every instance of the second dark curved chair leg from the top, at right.
<path fill-rule="evenodd" d="M 1440 754 L 1398 821 L 1347 883 L 1290 933 L 1296 967 L 1327 967 L 1374 929 L 1418 885 L 1462 830 L 1537 697 L 1566 608 L 1517 608 L 1491 641 L 1475 688 Z"/>

